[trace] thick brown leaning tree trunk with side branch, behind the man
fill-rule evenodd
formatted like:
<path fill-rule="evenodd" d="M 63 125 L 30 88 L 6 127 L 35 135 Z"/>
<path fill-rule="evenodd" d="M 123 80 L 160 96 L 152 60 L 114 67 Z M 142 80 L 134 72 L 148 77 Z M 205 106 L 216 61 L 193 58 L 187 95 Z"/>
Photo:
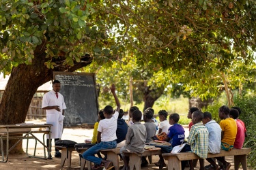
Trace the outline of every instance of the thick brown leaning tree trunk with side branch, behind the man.
<path fill-rule="evenodd" d="M 55 61 L 59 66 L 55 69 L 48 69 L 44 63 L 49 58 L 45 58 L 44 51 L 44 46 L 38 46 L 34 51 L 35 58 L 31 65 L 22 64 L 12 68 L 0 103 L 0 124 L 25 122 L 33 95 L 39 86 L 53 80 L 53 71 L 72 72 L 91 63 L 91 58 L 85 56 L 83 63 L 75 63 L 73 67 L 66 67 L 61 64 L 64 58 L 60 57 Z M 12 153 L 18 153 L 20 150 L 22 150 L 21 144 L 16 146 Z"/>

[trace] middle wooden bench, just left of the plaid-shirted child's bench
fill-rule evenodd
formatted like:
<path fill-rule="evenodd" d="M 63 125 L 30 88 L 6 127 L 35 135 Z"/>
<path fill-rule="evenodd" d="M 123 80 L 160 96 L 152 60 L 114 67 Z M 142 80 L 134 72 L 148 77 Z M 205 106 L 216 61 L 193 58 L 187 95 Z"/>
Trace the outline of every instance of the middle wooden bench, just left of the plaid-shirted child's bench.
<path fill-rule="evenodd" d="M 129 167 L 130 169 L 141 170 L 141 156 L 153 156 L 162 154 L 161 148 L 154 148 L 154 150 L 145 150 L 142 154 L 124 151 L 126 156 L 130 157 Z"/>

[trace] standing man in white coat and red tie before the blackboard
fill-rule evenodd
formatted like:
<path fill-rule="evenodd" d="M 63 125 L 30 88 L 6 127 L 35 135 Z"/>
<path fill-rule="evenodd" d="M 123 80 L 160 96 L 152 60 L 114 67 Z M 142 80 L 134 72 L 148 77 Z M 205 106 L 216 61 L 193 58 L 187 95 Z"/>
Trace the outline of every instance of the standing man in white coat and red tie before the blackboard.
<path fill-rule="evenodd" d="M 59 93 L 61 83 L 58 80 L 53 81 L 53 90 L 46 92 L 42 100 L 42 109 L 46 109 L 46 123 L 53 124 L 51 127 L 51 141 L 55 142 L 61 139 L 63 131 L 64 109 L 66 105 L 63 96 Z M 47 135 L 47 146 L 49 143 L 49 136 Z M 48 146 L 51 152 L 51 145 Z M 55 157 L 61 158 L 61 153 L 55 148 Z M 52 158 L 51 156 L 49 158 Z"/>

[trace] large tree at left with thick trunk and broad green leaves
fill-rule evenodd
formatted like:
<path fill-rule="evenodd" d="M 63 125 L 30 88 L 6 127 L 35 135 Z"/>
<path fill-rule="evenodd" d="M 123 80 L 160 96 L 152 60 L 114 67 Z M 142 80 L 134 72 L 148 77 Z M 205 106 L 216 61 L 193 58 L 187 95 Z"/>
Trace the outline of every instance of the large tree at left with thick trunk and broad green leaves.
<path fill-rule="evenodd" d="M 25 122 L 35 91 L 53 80 L 53 71 L 75 71 L 97 57 L 115 59 L 104 24 L 89 18 L 91 12 L 91 1 L 0 1 L 0 70 L 11 73 L 0 124 Z"/>

